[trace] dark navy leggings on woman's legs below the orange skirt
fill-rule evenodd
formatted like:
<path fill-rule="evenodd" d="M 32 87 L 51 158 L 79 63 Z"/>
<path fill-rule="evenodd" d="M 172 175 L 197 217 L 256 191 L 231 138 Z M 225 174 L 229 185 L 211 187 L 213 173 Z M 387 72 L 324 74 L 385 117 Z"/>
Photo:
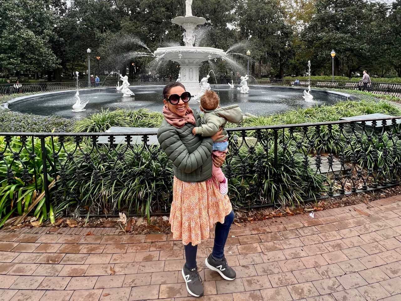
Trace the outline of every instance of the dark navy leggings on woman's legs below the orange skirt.
<path fill-rule="evenodd" d="M 227 241 L 228 233 L 230 231 L 231 224 L 234 221 L 234 212 L 231 211 L 225 218 L 224 224 L 217 222 L 215 230 L 215 244 L 213 246 L 212 256 L 215 259 L 221 259 L 224 257 L 224 246 Z M 186 268 L 192 269 L 196 267 L 196 252 L 198 245 L 192 246 L 192 243 L 184 246 Z"/>

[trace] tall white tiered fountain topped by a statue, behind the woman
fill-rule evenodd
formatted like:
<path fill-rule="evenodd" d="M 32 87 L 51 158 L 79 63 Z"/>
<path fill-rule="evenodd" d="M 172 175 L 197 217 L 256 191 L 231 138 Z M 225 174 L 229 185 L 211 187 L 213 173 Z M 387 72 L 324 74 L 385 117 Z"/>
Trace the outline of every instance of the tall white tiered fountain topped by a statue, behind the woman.
<path fill-rule="evenodd" d="M 192 96 L 197 96 L 201 92 L 199 85 L 199 65 L 203 61 L 226 57 L 222 49 L 212 47 L 194 47 L 194 29 L 198 25 L 206 23 L 205 18 L 192 16 L 192 0 L 185 1 L 185 16 L 179 16 L 171 20 L 173 24 L 178 24 L 185 29 L 183 33 L 185 46 L 163 47 L 154 52 L 156 57 L 162 57 L 180 64 L 181 83 L 184 84 L 186 91 Z"/>

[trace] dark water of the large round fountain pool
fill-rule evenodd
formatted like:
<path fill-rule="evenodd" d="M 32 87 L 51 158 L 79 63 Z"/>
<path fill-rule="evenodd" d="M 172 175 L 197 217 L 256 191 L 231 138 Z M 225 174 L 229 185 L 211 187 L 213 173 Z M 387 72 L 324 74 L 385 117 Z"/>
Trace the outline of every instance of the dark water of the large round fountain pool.
<path fill-rule="evenodd" d="M 228 85 L 211 85 L 211 87 L 219 94 L 221 106 L 238 104 L 243 112 L 254 115 L 269 115 L 296 110 L 297 108 L 307 108 L 316 103 L 318 105 L 331 105 L 340 100 L 345 100 L 348 96 L 338 92 L 313 90 L 316 102 L 308 103 L 302 98 L 303 88 L 252 85 L 249 94 L 241 94 L 235 89 L 230 89 Z M 115 87 L 79 90 L 81 98 L 89 98 L 89 103 L 85 107 L 86 111 L 83 112 L 71 112 L 71 106 L 75 103 L 75 91 L 25 96 L 15 102 L 9 101 L 8 108 L 15 112 L 42 116 L 58 115 L 74 119 L 82 119 L 108 108 L 111 110 L 146 108 L 155 112 L 162 111 L 163 86 L 136 86 L 130 87 L 130 89 L 135 93 L 135 96 L 130 98 L 122 97 L 121 93 L 116 93 Z M 192 98 L 190 106 L 193 109 L 198 109 L 199 103 Z"/>

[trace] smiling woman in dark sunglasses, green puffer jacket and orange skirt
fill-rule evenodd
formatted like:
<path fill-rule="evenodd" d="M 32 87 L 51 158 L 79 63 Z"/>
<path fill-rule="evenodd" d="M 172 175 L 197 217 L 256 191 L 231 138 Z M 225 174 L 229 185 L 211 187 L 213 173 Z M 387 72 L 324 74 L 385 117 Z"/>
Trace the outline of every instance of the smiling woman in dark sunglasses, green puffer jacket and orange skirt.
<path fill-rule="evenodd" d="M 190 93 L 180 82 L 163 89 L 164 120 L 157 137 L 160 146 L 174 165 L 173 201 L 170 224 L 173 238 L 182 239 L 186 262 L 182 277 L 188 293 L 203 296 L 201 277 L 196 266 L 196 250 L 201 239 L 209 238 L 210 228 L 216 224 L 213 252 L 205 264 L 223 279 L 234 280 L 235 271 L 227 264 L 224 246 L 234 220 L 234 212 L 227 195 L 219 191 L 217 179 L 212 177 L 212 164 L 221 167 L 225 158 L 213 157 L 213 141 L 222 138 L 221 130 L 212 137 L 192 135 L 200 125 L 200 116 L 188 106 Z"/>

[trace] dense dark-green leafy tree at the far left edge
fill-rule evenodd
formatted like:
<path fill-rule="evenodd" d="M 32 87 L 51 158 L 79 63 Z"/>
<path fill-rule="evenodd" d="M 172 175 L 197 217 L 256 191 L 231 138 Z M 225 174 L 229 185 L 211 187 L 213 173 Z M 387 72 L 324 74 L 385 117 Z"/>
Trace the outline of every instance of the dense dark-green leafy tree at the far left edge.
<path fill-rule="evenodd" d="M 43 0 L 8 0 L 0 5 L 0 68 L 23 71 L 55 68 L 51 49 L 53 12 Z"/>

